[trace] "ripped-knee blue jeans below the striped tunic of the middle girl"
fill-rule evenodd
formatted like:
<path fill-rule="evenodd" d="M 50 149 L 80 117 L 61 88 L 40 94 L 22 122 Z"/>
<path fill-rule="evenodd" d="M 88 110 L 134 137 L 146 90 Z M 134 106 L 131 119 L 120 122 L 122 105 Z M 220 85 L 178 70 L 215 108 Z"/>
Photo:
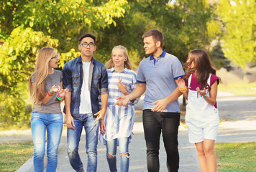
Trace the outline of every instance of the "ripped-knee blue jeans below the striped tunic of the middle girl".
<path fill-rule="evenodd" d="M 120 171 L 129 171 L 129 156 L 122 154 L 129 154 L 129 138 L 116 138 L 114 140 L 106 140 L 106 160 L 109 163 L 109 170 L 111 172 L 116 172 L 116 146 L 117 141 L 119 143 L 119 155 L 120 155 Z M 110 154 L 110 155 L 109 155 Z M 112 156 L 113 158 L 109 158 Z"/>

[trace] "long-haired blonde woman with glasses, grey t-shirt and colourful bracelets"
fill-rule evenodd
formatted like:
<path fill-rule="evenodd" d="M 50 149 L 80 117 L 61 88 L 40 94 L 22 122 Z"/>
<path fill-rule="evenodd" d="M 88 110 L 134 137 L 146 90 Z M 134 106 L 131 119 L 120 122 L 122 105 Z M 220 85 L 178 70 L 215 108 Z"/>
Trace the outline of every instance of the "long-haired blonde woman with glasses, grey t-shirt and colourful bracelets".
<path fill-rule="evenodd" d="M 31 115 L 31 130 L 34 143 L 34 170 L 44 171 L 45 133 L 47 130 L 46 171 L 56 171 L 58 146 L 63 130 L 63 115 L 60 102 L 68 89 L 63 90 L 63 74 L 58 67 L 55 49 L 43 47 L 37 56 L 35 72 L 29 79 L 29 90 L 34 101 Z"/>

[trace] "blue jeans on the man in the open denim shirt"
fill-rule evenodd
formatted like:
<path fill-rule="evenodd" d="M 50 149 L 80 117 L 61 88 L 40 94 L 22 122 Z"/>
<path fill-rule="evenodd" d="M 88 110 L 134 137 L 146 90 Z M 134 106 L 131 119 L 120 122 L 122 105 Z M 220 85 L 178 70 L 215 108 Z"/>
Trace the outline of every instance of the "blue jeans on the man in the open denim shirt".
<path fill-rule="evenodd" d="M 74 118 L 75 130 L 68 128 L 68 158 L 75 171 L 83 169 L 83 163 L 78 153 L 81 133 L 86 130 L 86 153 L 88 156 L 87 171 L 97 171 L 97 144 L 99 135 L 99 121 L 93 114 L 80 114 L 78 119 Z"/>

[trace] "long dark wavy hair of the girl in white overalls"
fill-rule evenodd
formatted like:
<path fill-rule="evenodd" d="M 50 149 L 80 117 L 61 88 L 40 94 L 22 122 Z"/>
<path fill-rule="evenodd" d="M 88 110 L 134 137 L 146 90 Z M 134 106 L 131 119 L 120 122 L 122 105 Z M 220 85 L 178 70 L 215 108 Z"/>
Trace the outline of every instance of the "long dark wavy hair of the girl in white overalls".
<path fill-rule="evenodd" d="M 188 68 L 192 63 L 194 63 L 193 68 Z M 186 69 L 186 76 L 184 77 L 184 80 L 188 80 L 190 75 L 196 71 L 196 80 L 201 85 L 201 89 L 205 87 L 208 88 L 209 91 L 211 90 L 210 85 L 207 84 L 207 80 L 210 74 L 216 75 L 216 70 L 204 49 L 196 49 L 189 52 L 188 60 L 184 64 L 184 67 Z M 220 81 L 219 77 L 218 80 Z"/>

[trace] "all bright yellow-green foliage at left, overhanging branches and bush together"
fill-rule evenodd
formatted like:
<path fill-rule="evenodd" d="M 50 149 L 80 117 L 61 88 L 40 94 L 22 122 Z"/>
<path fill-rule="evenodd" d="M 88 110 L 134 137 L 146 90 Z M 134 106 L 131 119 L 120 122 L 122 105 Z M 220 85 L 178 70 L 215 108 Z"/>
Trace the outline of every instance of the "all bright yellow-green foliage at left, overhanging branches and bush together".
<path fill-rule="evenodd" d="M 126 6 L 126 0 L 1 1 L 1 127 L 29 123 L 27 82 L 40 48 L 58 48 L 63 67 L 64 60 L 78 55 L 73 48 L 81 33 L 115 25 L 114 17 L 124 16 Z"/>

